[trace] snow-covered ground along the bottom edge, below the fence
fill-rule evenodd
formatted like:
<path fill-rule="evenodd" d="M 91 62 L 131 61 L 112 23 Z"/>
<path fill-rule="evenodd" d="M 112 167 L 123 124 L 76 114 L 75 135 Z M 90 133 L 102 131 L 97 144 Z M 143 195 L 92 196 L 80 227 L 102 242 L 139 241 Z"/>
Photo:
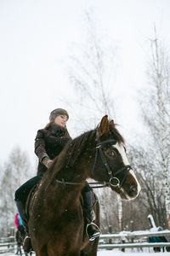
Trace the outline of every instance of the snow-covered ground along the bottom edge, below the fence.
<path fill-rule="evenodd" d="M 1 254 L 1 256 L 14 256 L 14 253 L 4 253 Z M 32 254 L 35 255 L 35 254 Z M 130 253 L 122 253 L 120 251 L 112 250 L 112 251 L 99 251 L 98 256 L 170 256 L 170 253 L 136 253 L 136 252 L 130 252 Z"/>

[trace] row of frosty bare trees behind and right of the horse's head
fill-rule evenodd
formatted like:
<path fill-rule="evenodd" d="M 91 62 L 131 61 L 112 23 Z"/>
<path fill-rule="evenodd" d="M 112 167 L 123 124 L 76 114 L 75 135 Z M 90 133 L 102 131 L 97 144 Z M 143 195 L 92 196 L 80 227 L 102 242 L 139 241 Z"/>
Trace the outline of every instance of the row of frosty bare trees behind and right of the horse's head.
<path fill-rule="evenodd" d="M 87 15 L 88 40 L 80 55 L 71 57 L 70 79 L 77 92 L 82 112 L 88 111 L 88 124 L 96 124 L 105 113 L 116 117 L 114 76 L 116 50 L 112 51 L 98 37 L 94 20 Z M 104 38 L 104 37 L 103 37 Z M 135 201 L 120 201 L 110 190 L 99 193 L 103 230 L 113 226 L 118 231 L 150 228 L 148 214 L 156 225 L 167 228 L 170 216 L 170 59 L 168 51 L 156 36 L 150 39 L 146 61 L 147 86 L 139 93 L 139 111 L 143 134 L 133 146 L 128 144 L 128 157 L 137 172 L 142 191 Z M 114 53 L 114 54 L 113 54 Z M 113 101 L 114 99 L 114 101 Z M 78 103 L 78 100 L 77 100 Z M 90 109 L 89 109 L 90 106 Z M 75 109 L 73 109 L 75 113 Z M 82 120 L 81 120 L 82 125 Z M 169 225 L 170 226 L 170 225 Z"/>

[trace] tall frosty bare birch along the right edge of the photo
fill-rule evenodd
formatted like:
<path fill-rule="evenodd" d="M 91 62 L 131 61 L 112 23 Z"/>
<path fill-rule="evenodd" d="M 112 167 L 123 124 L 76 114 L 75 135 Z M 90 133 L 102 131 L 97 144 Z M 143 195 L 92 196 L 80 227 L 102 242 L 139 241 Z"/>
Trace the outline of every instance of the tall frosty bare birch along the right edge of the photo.
<path fill-rule="evenodd" d="M 167 217 L 170 214 L 170 58 L 168 51 L 156 37 L 150 40 L 150 55 L 147 68 L 149 87 L 142 97 L 142 114 L 149 131 L 149 150 L 153 151 L 156 166 L 155 177 L 163 189 L 161 199 L 166 205 Z"/>

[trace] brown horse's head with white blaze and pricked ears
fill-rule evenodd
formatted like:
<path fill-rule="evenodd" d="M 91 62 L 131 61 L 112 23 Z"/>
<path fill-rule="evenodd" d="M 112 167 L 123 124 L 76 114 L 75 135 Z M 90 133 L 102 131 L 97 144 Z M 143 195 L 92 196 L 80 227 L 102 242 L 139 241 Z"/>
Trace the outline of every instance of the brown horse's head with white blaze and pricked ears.
<path fill-rule="evenodd" d="M 92 177 L 105 181 L 122 199 L 139 195 L 140 185 L 129 166 L 124 140 L 107 115 L 101 119 L 96 133 L 96 153 Z"/>

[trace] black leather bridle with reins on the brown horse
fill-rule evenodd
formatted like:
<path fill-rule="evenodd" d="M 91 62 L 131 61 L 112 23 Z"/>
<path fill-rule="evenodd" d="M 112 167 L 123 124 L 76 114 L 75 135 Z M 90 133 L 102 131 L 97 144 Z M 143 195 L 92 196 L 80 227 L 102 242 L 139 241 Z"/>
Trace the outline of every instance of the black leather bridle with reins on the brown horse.
<path fill-rule="evenodd" d="M 98 188 L 105 188 L 105 187 L 117 187 L 118 189 L 121 189 L 122 187 L 122 184 L 125 182 L 126 178 L 127 178 L 127 173 L 132 170 L 132 167 L 127 165 L 127 166 L 123 166 L 121 169 L 117 170 L 115 173 L 113 173 L 111 171 L 111 168 L 110 166 L 108 165 L 108 162 L 105 158 L 105 154 L 103 153 L 102 151 L 102 145 L 105 144 L 105 143 L 116 143 L 116 140 L 115 139 L 111 139 L 111 140 L 105 140 L 103 142 L 99 142 L 99 135 L 98 135 L 98 132 L 96 133 L 96 141 L 97 141 L 97 144 L 96 144 L 96 152 L 95 152 L 95 159 L 94 159 L 94 166 L 93 166 L 93 169 L 92 169 L 92 175 L 94 175 L 94 169 L 95 169 L 95 166 L 96 166 L 96 162 L 97 162 L 97 159 L 98 159 L 98 155 L 100 156 L 105 168 L 107 169 L 107 173 L 110 177 L 110 180 L 108 182 L 103 182 L 103 183 L 96 183 L 96 182 L 92 182 L 92 183 L 72 183 L 72 182 L 66 182 L 64 180 L 64 178 L 62 178 L 62 180 L 59 180 L 59 179 L 56 179 L 56 182 L 57 183 L 62 183 L 63 185 L 95 185 L 94 187 L 92 187 L 93 189 L 98 189 Z M 127 173 L 124 175 L 124 177 L 122 178 L 122 181 L 119 180 L 118 177 L 116 177 L 117 174 L 119 174 L 120 172 L 123 172 L 127 170 Z M 96 185 L 101 185 L 101 186 L 96 186 Z"/>

